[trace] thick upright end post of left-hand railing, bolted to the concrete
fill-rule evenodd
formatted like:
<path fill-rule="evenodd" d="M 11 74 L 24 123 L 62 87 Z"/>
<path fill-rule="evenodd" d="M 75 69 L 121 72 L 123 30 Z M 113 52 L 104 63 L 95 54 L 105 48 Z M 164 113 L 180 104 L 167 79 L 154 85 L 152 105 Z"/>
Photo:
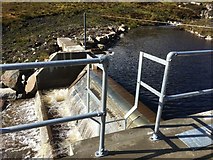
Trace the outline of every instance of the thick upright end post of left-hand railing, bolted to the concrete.
<path fill-rule="evenodd" d="M 101 116 L 101 129 L 100 129 L 100 142 L 99 142 L 99 150 L 95 152 L 96 157 L 103 157 L 108 155 L 108 151 L 105 150 L 104 142 L 105 142 L 105 125 L 106 125 L 106 103 L 107 103 L 107 77 L 108 77 L 108 65 L 109 60 L 106 57 L 103 60 L 103 78 L 102 78 L 102 112 L 104 113 Z"/>

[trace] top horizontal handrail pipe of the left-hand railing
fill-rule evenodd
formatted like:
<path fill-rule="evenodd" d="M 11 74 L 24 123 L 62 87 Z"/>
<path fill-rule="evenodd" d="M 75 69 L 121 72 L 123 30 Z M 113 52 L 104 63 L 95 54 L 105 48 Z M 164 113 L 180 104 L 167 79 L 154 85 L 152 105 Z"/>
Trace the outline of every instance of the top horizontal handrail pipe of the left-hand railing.
<path fill-rule="evenodd" d="M 29 63 L 12 63 L 12 64 L 0 64 L 0 69 L 15 70 L 15 69 L 32 69 L 32 68 L 47 68 L 47 67 L 62 67 L 71 65 L 87 65 L 93 63 L 102 63 L 105 57 L 93 58 L 93 59 L 75 59 L 75 60 L 59 60 L 49 62 L 29 62 Z"/>

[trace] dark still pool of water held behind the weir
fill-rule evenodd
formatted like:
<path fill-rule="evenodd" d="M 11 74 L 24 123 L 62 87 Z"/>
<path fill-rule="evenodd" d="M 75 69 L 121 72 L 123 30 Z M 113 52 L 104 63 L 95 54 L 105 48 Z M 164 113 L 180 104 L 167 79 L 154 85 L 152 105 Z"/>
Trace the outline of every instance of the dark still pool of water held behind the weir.
<path fill-rule="evenodd" d="M 170 51 L 212 49 L 211 42 L 195 35 L 170 27 L 140 27 L 129 31 L 112 51 L 109 75 L 135 94 L 139 52 L 144 51 L 166 58 Z M 178 57 L 173 61 L 169 75 L 168 94 L 212 88 L 212 56 Z M 163 66 L 144 61 L 143 81 L 160 91 Z M 157 110 L 158 98 L 141 88 L 140 99 L 153 111 Z M 168 102 L 163 118 L 170 119 L 212 109 L 212 96 L 198 96 Z"/>

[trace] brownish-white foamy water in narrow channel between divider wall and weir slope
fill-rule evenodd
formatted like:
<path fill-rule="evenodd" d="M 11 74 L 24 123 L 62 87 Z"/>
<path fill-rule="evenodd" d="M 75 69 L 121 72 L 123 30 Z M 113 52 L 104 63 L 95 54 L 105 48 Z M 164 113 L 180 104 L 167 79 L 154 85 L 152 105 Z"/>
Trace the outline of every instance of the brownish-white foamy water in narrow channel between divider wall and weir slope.
<path fill-rule="evenodd" d="M 70 105 L 67 104 L 68 88 L 53 89 L 42 92 L 44 107 L 49 118 L 71 116 Z M 54 157 L 62 158 L 70 155 L 70 144 L 81 140 L 76 122 L 66 122 L 51 126 L 53 140 L 51 142 Z"/>

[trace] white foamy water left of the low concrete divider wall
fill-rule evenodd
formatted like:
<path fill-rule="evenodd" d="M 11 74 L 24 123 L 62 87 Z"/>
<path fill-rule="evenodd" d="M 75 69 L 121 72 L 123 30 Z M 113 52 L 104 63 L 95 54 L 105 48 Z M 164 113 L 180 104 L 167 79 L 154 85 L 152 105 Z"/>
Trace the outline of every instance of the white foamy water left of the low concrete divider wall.
<path fill-rule="evenodd" d="M 2 111 L 2 127 L 37 121 L 35 99 L 15 100 Z M 40 148 L 39 128 L 1 135 L 2 158 L 32 158 Z"/>

